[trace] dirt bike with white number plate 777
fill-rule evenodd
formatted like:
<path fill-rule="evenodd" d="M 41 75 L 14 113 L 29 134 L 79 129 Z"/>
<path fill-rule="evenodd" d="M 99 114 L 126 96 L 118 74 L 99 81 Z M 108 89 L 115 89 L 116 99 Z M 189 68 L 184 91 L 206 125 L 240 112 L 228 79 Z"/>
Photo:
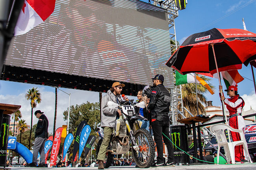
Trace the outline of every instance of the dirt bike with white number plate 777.
<path fill-rule="evenodd" d="M 155 147 L 151 134 L 146 129 L 140 129 L 138 120 L 147 119 L 135 113 L 135 107 L 145 108 L 144 102 L 132 103 L 124 101 L 119 104 L 109 101 L 109 108 L 119 108 L 122 115 L 116 120 L 115 128 L 111 134 L 106 153 L 105 168 L 113 162 L 114 155 L 132 152 L 132 157 L 139 168 L 148 168 L 154 163 Z M 134 133 L 135 131 L 135 133 Z M 96 147 L 96 156 L 103 139 L 103 129 L 98 130 L 97 134 L 101 138 Z"/>

